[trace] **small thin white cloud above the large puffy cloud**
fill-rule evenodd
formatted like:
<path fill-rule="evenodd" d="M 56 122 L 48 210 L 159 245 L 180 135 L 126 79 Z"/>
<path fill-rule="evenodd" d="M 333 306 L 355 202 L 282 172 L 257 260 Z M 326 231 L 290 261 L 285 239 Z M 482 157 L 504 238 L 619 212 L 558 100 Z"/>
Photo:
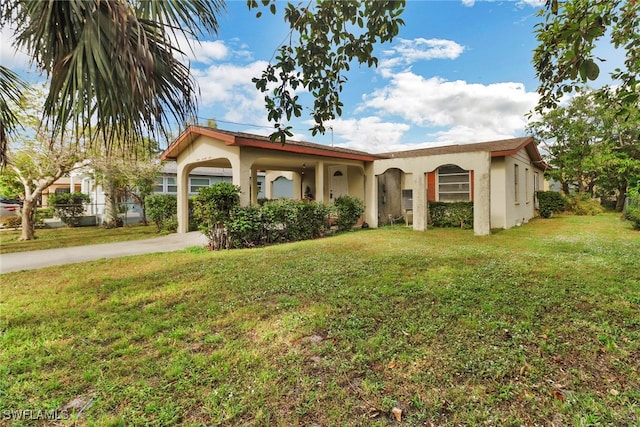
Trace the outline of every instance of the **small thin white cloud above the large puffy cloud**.
<path fill-rule="evenodd" d="M 383 52 L 383 55 L 389 58 L 380 62 L 380 68 L 409 65 L 431 59 L 456 59 L 463 51 L 464 46 L 452 40 L 399 39 L 397 45 Z"/>

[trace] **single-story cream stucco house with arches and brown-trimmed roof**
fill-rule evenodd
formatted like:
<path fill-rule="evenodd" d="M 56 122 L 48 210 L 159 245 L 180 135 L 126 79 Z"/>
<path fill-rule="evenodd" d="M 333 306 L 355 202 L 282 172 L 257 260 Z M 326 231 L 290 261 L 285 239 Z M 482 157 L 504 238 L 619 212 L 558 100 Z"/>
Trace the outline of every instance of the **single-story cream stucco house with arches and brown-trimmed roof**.
<path fill-rule="evenodd" d="M 242 205 L 257 203 L 258 175 L 267 198 L 282 176 L 293 180 L 294 198 L 358 197 L 371 227 L 405 216 L 425 230 L 430 201 L 472 201 L 476 235 L 533 218 L 548 168 L 532 137 L 370 154 L 201 126 L 187 128 L 161 158 L 176 162 L 181 233 L 188 229 L 189 174 L 199 167 L 230 170 Z"/>

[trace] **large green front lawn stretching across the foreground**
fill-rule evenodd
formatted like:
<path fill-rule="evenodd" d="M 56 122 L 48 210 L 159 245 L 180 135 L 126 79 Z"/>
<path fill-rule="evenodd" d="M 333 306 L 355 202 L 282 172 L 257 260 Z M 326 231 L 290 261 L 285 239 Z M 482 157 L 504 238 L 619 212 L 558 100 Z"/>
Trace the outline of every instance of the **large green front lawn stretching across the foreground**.
<path fill-rule="evenodd" d="M 639 259 L 640 233 L 609 214 L 12 274 L 0 409 L 77 399 L 68 423 L 89 426 L 384 426 L 393 408 L 403 425 L 637 425 Z"/>

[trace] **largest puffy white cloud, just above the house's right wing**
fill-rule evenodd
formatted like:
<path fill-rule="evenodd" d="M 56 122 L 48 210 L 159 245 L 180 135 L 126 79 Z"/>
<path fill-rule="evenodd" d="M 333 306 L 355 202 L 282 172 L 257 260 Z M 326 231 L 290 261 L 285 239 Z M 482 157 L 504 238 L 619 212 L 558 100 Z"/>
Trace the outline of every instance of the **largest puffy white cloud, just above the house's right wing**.
<path fill-rule="evenodd" d="M 538 100 L 522 83 L 472 84 L 463 80 L 425 79 L 410 71 L 396 74 L 390 84 L 365 95 L 359 111 L 395 115 L 418 127 L 437 127 L 439 142 L 473 142 L 517 136 L 524 115 Z"/>

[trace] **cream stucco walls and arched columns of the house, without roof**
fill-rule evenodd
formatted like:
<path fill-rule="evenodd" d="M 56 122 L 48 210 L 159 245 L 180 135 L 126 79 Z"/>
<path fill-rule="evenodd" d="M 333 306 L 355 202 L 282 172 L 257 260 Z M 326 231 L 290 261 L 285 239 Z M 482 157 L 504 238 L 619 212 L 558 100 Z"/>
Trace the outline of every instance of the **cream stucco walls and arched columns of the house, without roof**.
<path fill-rule="evenodd" d="M 520 165 L 520 201 L 515 202 L 513 170 Z M 222 140 L 199 136 L 177 159 L 178 164 L 178 231 L 188 228 L 188 177 L 198 166 L 230 167 L 233 183 L 242 189 L 240 203 L 247 205 L 256 200 L 255 177 L 257 171 L 287 171 L 294 181 L 294 197 L 308 185 L 317 201 L 330 202 L 331 185 L 329 169 L 344 165 L 347 168 L 348 192 L 365 202 L 365 221 L 370 226 L 378 224 L 377 176 L 387 169 L 403 172 L 402 189 L 413 190 L 413 228 L 427 228 L 427 173 L 446 164 L 454 164 L 473 170 L 474 233 L 490 234 L 491 228 L 509 228 L 526 222 L 534 216 L 534 171 L 543 177 L 543 171 L 534 167 L 525 149 L 515 156 L 491 158 L 489 152 L 467 152 L 430 155 L 423 157 L 381 159 L 375 162 L 342 160 L 332 157 L 269 151 L 259 148 L 227 146 Z M 305 165 L 305 174 L 301 166 Z M 528 171 L 527 171 L 528 169 Z M 525 178 L 527 172 L 528 178 Z M 269 181 L 267 180 L 267 183 Z M 542 182 L 541 182 L 542 185 Z M 525 188 L 526 187 L 526 188 Z M 249 188 L 252 189 L 250 193 Z M 528 196 L 528 197 L 527 197 Z"/>

